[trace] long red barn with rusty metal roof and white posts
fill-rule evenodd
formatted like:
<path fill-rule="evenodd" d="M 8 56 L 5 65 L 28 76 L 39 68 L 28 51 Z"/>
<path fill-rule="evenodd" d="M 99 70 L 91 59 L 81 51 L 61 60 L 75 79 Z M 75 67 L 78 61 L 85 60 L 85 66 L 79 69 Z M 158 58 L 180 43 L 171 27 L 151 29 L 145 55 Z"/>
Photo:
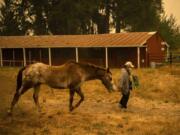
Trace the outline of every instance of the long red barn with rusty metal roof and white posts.
<path fill-rule="evenodd" d="M 0 36 L 0 64 L 20 66 L 42 61 L 59 65 L 73 59 L 105 67 L 120 67 L 125 61 L 148 67 L 151 62 L 164 62 L 164 43 L 158 32 Z"/>

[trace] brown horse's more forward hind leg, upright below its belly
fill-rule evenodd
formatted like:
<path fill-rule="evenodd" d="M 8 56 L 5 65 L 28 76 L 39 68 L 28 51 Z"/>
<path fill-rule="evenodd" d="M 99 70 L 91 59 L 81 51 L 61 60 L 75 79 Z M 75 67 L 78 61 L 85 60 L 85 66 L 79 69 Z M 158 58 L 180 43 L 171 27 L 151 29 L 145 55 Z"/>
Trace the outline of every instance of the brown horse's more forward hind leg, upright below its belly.
<path fill-rule="evenodd" d="M 39 105 L 39 91 L 40 91 L 40 84 L 38 84 L 34 87 L 34 94 L 33 94 L 34 103 L 36 104 L 37 109 L 40 112 L 41 108 Z"/>

